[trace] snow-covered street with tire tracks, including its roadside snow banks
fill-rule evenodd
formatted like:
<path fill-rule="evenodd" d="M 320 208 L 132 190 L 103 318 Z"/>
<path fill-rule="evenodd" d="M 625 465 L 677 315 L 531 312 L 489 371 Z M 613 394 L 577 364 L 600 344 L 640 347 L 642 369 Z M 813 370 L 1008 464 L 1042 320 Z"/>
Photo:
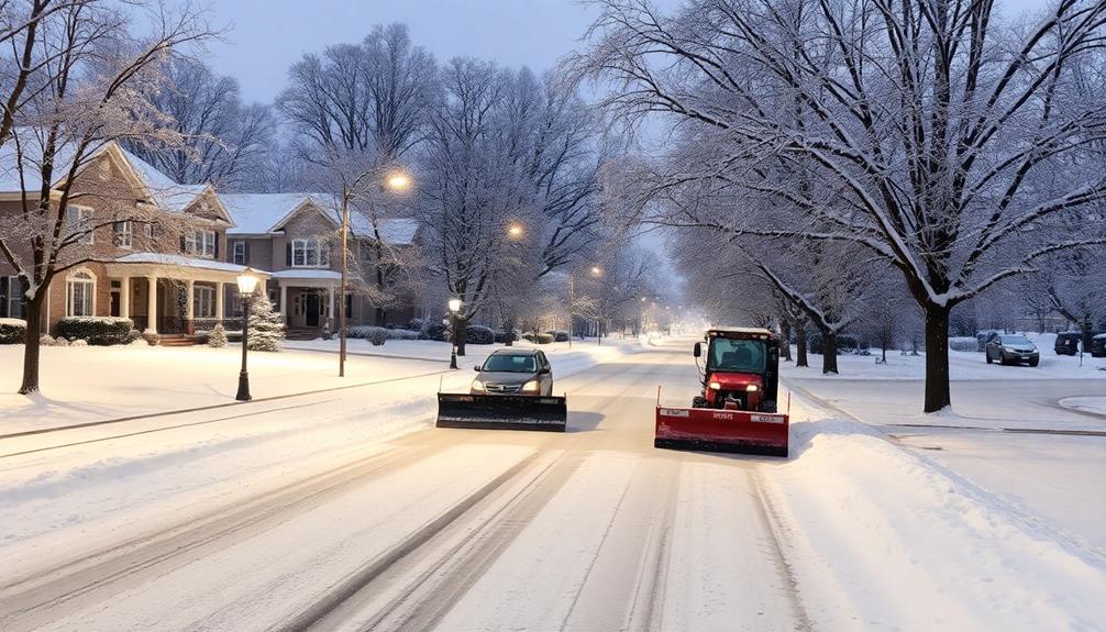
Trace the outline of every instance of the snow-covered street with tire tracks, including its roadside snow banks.
<path fill-rule="evenodd" d="M 1103 620 L 1100 554 L 810 401 L 791 460 L 654 450 L 657 386 L 696 391 L 688 348 L 559 378 L 565 434 L 427 429 L 438 378 L 413 377 L 2 440 L 0 629 Z"/>

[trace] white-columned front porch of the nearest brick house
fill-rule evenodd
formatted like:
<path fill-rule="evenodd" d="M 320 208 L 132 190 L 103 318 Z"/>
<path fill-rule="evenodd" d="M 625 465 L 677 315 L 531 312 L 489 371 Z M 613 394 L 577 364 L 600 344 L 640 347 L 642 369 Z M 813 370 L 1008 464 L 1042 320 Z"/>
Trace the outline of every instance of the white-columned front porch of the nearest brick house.
<path fill-rule="evenodd" d="M 173 262 L 127 259 L 105 265 L 107 315 L 131 318 L 145 334 L 192 335 L 218 324 L 228 330 L 241 329 L 238 276 L 246 266 L 185 257 Z M 269 274 L 251 272 L 262 278 Z"/>

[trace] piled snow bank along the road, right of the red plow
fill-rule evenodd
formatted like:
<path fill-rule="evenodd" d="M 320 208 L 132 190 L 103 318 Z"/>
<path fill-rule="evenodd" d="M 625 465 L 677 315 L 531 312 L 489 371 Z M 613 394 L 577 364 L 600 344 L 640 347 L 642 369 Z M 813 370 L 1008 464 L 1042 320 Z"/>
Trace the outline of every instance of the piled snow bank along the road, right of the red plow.
<path fill-rule="evenodd" d="M 1094 629 L 1106 560 L 935 462 L 796 399 L 760 482 L 807 614 L 827 630 Z M 770 471 L 769 471 L 770 470 Z"/>

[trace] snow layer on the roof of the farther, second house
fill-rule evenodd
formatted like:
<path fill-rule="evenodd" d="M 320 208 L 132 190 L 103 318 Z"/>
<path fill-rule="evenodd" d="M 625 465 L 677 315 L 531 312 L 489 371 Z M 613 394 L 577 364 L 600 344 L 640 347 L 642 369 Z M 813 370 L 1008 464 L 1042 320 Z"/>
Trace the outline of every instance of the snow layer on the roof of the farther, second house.
<path fill-rule="evenodd" d="M 219 199 L 237 224 L 229 234 L 267 234 L 280 230 L 289 213 L 304 202 L 314 207 L 337 225 L 341 219 L 327 200 L 326 193 L 221 193 Z M 378 220 L 380 239 L 394 245 L 410 245 L 418 231 L 418 221 L 413 218 Z M 362 213 L 349 213 L 349 229 L 355 235 L 372 236 L 373 222 Z"/>

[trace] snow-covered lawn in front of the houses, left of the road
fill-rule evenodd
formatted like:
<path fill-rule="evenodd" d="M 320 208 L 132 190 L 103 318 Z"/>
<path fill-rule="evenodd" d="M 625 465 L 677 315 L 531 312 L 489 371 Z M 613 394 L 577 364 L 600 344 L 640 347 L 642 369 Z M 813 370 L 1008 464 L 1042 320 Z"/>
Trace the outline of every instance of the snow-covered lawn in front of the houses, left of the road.
<path fill-rule="evenodd" d="M 363 340 L 362 340 L 363 343 Z M 316 347 L 337 349 L 337 341 Z M 424 393 L 442 380 L 446 390 L 468 388 L 471 368 L 500 345 L 470 346 L 450 371 L 449 345 L 430 340 L 389 340 L 389 357 L 351 354 L 346 377 L 337 377 L 337 355 L 302 349 L 249 355 L 250 391 L 255 400 L 323 389 L 394 382 L 434 376 Z M 567 376 L 638 347 L 622 344 L 549 345 L 554 377 Z M 108 419 L 188 410 L 234 401 L 241 347 L 44 347 L 42 392 L 23 397 L 19 387 L 22 345 L 0 346 L 0 435 Z M 428 361 L 434 360 L 434 361 Z M 465 370 L 467 369 L 467 370 Z M 404 389 L 396 389 L 404 392 Z"/>

